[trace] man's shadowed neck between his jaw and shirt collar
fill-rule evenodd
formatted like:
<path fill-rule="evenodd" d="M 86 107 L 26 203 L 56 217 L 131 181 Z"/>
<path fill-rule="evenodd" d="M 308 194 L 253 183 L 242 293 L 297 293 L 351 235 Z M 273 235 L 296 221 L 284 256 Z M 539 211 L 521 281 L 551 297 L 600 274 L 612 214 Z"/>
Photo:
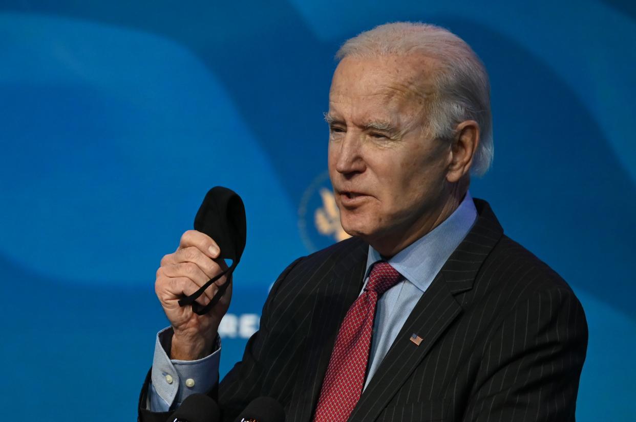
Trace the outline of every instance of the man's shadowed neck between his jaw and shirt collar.
<path fill-rule="evenodd" d="M 459 208 L 459 204 L 464 200 L 467 190 L 467 185 L 462 186 L 462 183 L 453 183 L 430 212 L 423 213 L 405 230 L 396 230 L 399 232 L 397 235 L 389 235 L 370 241 L 370 245 L 382 255 L 382 258 L 391 258 L 443 223 L 450 214 Z"/>

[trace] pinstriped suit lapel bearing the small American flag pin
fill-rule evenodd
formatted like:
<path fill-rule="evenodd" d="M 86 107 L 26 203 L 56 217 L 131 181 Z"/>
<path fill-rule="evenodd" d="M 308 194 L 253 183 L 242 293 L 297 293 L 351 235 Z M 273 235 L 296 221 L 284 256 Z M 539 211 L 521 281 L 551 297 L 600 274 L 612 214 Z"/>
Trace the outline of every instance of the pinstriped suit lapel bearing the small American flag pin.
<path fill-rule="evenodd" d="M 488 204 L 476 199 L 475 206 L 478 218 L 473 228 L 453 251 L 404 322 L 349 421 L 375 420 L 441 334 L 462 312 L 455 294 L 473 287 L 481 264 L 503 234 Z M 419 346 L 410 341 L 413 333 L 423 339 Z"/>

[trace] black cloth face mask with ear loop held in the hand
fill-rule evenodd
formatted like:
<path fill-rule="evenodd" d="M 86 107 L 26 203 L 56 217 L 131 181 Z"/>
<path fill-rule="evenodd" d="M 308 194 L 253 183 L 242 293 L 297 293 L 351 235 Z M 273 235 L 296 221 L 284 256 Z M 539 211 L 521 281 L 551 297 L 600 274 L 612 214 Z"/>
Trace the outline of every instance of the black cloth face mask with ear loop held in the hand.
<path fill-rule="evenodd" d="M 225 290 L 230 286 L 234 268 L 237 267 L 243 254 L 243 249 L 245 249 L 247 225 L 245 223 L 245 206 L 240 196 L 228 188 L 220 186 L 211 188 L 205 195 L 197 216 L 195 216 L 195 230 L 203 232 L 214 239 L 219 248 L 221 248 L 219 258 L 232 260 L 230 268 L 210 279 L 195 293 L 179 300 L 179 306 L 192 305 L 193 312 L 198 315 L 205 315 L 218 303 Z M 227 276 L 227 281 L 223 286 L 219 287 L 210 303 L 202 307 L 195 302 L 207 287 L 210 287 L 213 282 L 224 275 Z"/>

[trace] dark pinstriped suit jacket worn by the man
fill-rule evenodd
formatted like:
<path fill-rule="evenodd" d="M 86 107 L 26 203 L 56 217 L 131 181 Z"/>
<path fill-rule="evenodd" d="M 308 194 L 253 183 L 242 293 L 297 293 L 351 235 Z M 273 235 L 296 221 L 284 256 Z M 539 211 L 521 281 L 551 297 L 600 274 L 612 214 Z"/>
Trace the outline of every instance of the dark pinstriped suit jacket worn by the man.
<path fill-rule="evenodd" d="M 574 421 L 588 339 L 583 308 L 558 274 L 503 234 L 487 202 L 475 204 L 478 220 L 418 301 L 350 421 Z M 211 392 L 224 420 L 261 395 L 279 400 L 287 421 L 312 419 L 367 252 L 349 239 L 280 275 L 243 359 L 218 396 Z M 413 333 L 424 339 L 419 346 Z M 140 411 L 144 421 L 166 415 Z"/>

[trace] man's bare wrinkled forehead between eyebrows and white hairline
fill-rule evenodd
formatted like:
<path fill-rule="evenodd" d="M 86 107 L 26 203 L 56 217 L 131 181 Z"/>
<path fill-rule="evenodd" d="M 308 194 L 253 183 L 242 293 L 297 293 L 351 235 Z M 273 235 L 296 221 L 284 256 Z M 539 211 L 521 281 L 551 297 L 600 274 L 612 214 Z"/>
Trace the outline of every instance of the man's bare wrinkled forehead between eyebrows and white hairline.
<path fill-rule="evenodd" d="M 329 112 L 360 115 L 421 109 L 434 94 L 435 65 L 422 55 L 346 57 L 331 81 Z"/>

